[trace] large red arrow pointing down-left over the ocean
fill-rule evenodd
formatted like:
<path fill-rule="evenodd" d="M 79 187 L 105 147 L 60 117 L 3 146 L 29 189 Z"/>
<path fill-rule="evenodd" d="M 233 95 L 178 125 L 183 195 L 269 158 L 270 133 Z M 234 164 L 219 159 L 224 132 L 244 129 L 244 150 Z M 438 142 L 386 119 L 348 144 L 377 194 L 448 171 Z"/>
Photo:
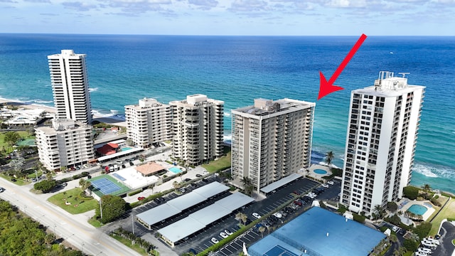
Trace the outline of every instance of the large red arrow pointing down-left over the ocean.
<path fill-rule="evenodd" d="M 321 100 L 321 98 L 325 97 L 328 94 L 331 94 L 332 92 L 336 92 L 338 90 L 344 90 L 343 87 L 339 87 L 336 85 L 333 85 L 333 82 L 335 82 L 336 78 L 338 78 L 338 75 L 341 74 L 341 71 L 343 71 L 344 68 L 346 68 L 346 65 L 348 65 L 349 61 L 351 58 L 353 58 L 355 52 L 357 52 L 358 48 L 362 46 L 363 41 L 367 36 L 365 34 L 362 34 L 360 38 L 358 38 L 357 43 L 353 46 L 352 49 L 350 49 L 348 55 L 346 55 L 346 58 L 344 58 L 343 62 L 338 66 L 338 68 L 335 70 L 335 73 L 333 73 L 332 77 L 330 80 L 326 80 L 326 77 L 324 77 L 323 73 L 319 71 L 319 76 L 321 77 L 321 84 L 319 85 L 319 95 L 318 95 L 318 100 Z"/>

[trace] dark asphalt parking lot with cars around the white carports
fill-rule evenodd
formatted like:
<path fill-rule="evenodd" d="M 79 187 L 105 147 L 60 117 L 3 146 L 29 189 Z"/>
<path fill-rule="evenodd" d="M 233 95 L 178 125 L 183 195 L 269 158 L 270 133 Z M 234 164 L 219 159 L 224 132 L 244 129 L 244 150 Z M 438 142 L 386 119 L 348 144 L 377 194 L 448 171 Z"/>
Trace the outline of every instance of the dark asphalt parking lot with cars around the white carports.
<path fill-rule="evenodd" d="M 206 181 L 196 181 L 196 186 L 191 186 L 188 185 L 186 186 L 186 192 L 188 193 L 189 191 L 193 190 L 194 188 L 198 188 L 200 186 L 204 186 L 207 183 L 213 182 L 213 181 L 222 181 L 222 178 L 219 176 L 211 175 L 206 178 Z M 334 180 L 335 181 L 335 180 Z M 282 188 L 277 189 L 274 193 L 270 193 L 267 195 L 267 198 L 264 198 L 261 201 L 255 201 L 251 203 L 250 205 L 245 206 L 245 208 L 242 208 L 240 211 L 237 211 L 235 213 L 232 213 L 231 215 L 226 216 L 225 218 L 222 218 L 215 223 L 209 225 L 205 229 L 201 230 L 198 233 L 195 233 L 194 235 L 189 236 L 185 240 L 181 240 L 176 244 L 176 247 L 173 249 L 174 252 L 176 252 L 178 255 L 181 255 L 185 252 L 188 252 L 189 250 L 196 250 L 196 252 L 201 252 L 208 247 L 213 245 L 212 238 L 215 238 L 216 240 L 220 241 L 223 240 L 223 238 L 220 236 L 220 233 L 225 232 L 225 230 L 228 231 L 228 233 L 235 233 L 239 229 L 239 220 L 235 219 L 235 214 L 238 212 L 245 213 L 247 215 L 247 224 L 250 223 L 252 220 L 255 220 L 256 218 L 253 217 L 252 213 L 258 213 L 261 216 L 267 215 L 268 213 L 271 213 L 275 209 L 277 209 L 280 206 L 283 206 L 284 203 L 287 203 L 288 201 L 291 201 L 291 199 L 297 198 L 304 196 L 304 193 L 308 193 L 312 191 L 314 188 L 319 187 L 320 183 L 316 181 L 312 181 L 306 178 L 299 178 L 296 181 L 292 181 L 291 183 L 288 183 L 286 186 L 283 186 Z M 336 200 L 338 193 L 340 193 L 340 186 L 341 183 L 340 181 L 335 181 L 335 184 L 333 186 L 330 186 L 329 188 L 326 188 L 323 193 L 321 193 L 316 199 L 319 200 Z M 296 192 L 296 193 L 294 193 Z M 297 195 L 299 193 L 299 195 Z M 213 198 L 210 201 L 206 201 L 204 203 L 201 203 L 199 206 L 196 206 L 194 208 L 191 208 L 190 210 L 185 211 L 185 213 L 181 213 L 179 215 L 174 216 L 173 218 L 166 220 L 165 223 L 159 223 L 158 225 L 154 225 L 152 231 L 147 230 L 144 228 L 142 225 L 139 225 L 139 223 L 134 222 L 134 230 L 135 233 L 139 236 L 145 235 L 146 233 L 155 233 L 156 230 L 159 228 L 163 228 L 166 225 L 169 225 L 170 223 L 173 223 L 177 220 L 180 220 L 181 218 L 185 218 L 188 214 L 195 212 L 196 210 L 200 210 L 201 208 L 204 208 L 205 206 L 210 205 L 211 203 L 218 201 L 220 198 L 223 198 L 227 196 L 229 193 L 222 194 L 218 198 Z M 176 198 L 177 195 L 176 193 L 169 193 L 166 196 L 163 196 L 166 201 L 169 201 L 173 198 Z M 164 202 L 156 202 L 156 201 L 151 201 L 149 203 L 144 204 L 143 206 L 139 206 L 138 208 L 134 208 L 132 210 L 132 213 L 134 215 L 137 215 L 139 213 L 143 213 L 146 210 L 149 210 L 151 208 L 154 208 L 156 206 L 159 206 L 161 203 Z M 294 205 L 294 203 L 291 203 L 291 205 Z M 302 207 L 301 206 L 294 206 L 296 207 L 295 209 L 292 210 L 292 212 L 289 212 L 288 214 L 285 213 L 286 217 L 283 216 L 282 219 L 277 220 L 277 218 L 268 218 L 268 221 L 270 219 L 276 219 L 272 225 L 272 227 L 267 228 L 263 233 L 260 233 L 258 228 L 252 228 L 248 230 L 246 233 L 240 235 L 239 237 L 235 238 L 235 240 L 232 240 L 228 245 L 225 245 L 221 250 L 217 252 L 218 255 L 238 255 L 239 252 L 242 250 L 242 245 L 243 242 L 248 245 L 252 245 L 254 242 L 257 240 L 261 239 L 262 236 L 268 235 L 272 230 L 278 228 L 280 225 L 282 225 L 281 220 L 287 221 L 291 220 L 292 218 L 296 217 L 297 215 L 301 214 L 311 206 L 311 202 L 304 204 Z M 129 215 L 129 218 L 124 218 L 123 220 L 119 220 L 118 224 L 122 226 L 125 230 L 132 230 L 132 217 Z M 153 241 L 149 241 L 153 242 Z M 154 241 L 156 243 L 156 241 Z"/>

